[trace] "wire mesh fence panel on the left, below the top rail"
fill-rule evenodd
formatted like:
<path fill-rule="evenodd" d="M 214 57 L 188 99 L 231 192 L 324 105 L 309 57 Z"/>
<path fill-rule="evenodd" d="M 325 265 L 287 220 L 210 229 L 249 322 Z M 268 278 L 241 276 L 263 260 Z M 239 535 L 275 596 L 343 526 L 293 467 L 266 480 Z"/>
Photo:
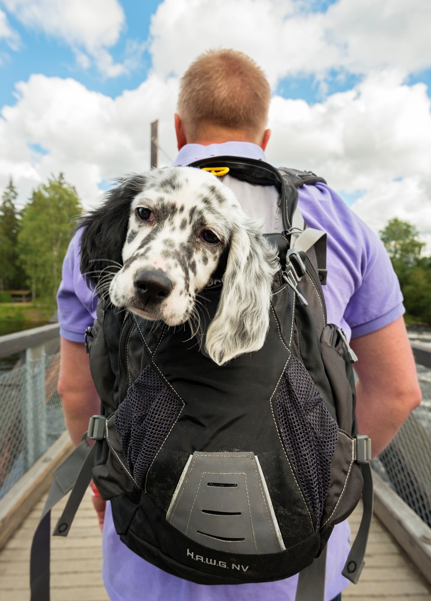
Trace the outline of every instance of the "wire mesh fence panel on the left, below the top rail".
<path fill-rule="evenodd" d="M 0 374 L 0 498 L 64 432 L 60 353 Z"/>

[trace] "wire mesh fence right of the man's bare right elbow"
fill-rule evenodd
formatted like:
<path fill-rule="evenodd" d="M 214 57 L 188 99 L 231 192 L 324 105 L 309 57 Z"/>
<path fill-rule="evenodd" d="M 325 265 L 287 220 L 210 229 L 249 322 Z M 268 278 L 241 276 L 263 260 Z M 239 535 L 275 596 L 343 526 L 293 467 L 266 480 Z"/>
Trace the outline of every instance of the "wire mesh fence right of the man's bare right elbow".
<path fill-rule="evenodd" d="M 371 465 L 431 526 L 431 370 L 417 365 L 423 400 Z"/>

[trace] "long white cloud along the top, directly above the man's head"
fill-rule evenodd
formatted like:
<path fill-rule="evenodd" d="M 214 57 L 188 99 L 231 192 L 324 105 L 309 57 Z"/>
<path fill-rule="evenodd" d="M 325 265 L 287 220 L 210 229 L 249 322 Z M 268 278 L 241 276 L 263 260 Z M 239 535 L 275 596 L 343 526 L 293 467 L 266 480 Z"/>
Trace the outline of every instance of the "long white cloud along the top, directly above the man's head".
<path fill-rule="evenodd" d="M 427 0 L 340 0 L 326 13 L 308 13 L 307 4 L 219 0 L 215 9 L 212 0 L 165 0 L 151 22 L 154 69 L 182 75 L 199 53 L 220 46 L 252 56 L 273 87 L 298 73 L 431 66 Z"/>

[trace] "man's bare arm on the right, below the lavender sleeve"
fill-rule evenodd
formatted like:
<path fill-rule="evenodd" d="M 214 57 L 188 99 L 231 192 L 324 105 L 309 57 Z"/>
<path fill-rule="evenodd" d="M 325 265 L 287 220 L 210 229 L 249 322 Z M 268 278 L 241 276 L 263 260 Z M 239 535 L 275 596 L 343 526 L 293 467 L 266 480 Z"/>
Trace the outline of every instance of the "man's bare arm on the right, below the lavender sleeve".
<path fill-rule="evenodd" d="M 371 438 L 376 457 L 421 402 L 416 365 L 403 317 L 350 341 L 358 356 L 355 371 L 359 434 Z"/>

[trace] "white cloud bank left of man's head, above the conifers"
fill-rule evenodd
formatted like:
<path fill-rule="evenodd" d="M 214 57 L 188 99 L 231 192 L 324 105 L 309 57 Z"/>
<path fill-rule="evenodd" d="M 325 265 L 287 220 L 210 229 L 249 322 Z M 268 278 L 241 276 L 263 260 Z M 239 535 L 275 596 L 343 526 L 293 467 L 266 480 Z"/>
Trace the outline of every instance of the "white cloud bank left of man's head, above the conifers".
<path fill-rule="evenodd" d="M 153 75 L 114 100 L 74 79 L 44 75 L 20 82 L 17 91 L 16 105 L 4 106 L 0 119 L 0 188 L 11 175 L 21 201 L 51 174 L 63 171 L 85 206 L 93 204 L 102 180 L 148 168 L 150 122 L 156 118 L 160 144 L 175 156 L 174 79 Z M 29 145 L 39 145 L 46 154 Z"/>

